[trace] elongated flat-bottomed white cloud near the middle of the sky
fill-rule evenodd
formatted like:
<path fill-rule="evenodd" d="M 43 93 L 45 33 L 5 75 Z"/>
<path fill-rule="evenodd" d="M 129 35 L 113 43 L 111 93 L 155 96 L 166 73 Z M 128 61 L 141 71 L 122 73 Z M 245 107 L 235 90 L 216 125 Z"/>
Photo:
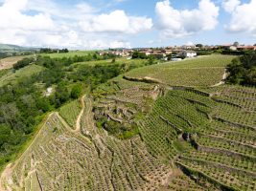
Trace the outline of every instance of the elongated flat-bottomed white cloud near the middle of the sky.
<path fill-rule="evenodd" d="M 138 33 L 151 30 L 152 21 L 151 18 L 128 16 L 125 11 L 117 10 L 83 20 L 80 26 L 84 32 Z"/>

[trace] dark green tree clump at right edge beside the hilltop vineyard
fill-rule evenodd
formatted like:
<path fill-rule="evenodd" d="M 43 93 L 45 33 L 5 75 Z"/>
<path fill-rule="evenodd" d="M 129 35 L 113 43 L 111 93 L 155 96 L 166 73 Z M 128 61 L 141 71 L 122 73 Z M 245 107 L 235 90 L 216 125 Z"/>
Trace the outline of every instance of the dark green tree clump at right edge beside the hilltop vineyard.
<path fill-rule="evenodd" d="M 256 53 L 236 58 L 228 65 L 227 81 L 241 85 L 256 85 Z"/>

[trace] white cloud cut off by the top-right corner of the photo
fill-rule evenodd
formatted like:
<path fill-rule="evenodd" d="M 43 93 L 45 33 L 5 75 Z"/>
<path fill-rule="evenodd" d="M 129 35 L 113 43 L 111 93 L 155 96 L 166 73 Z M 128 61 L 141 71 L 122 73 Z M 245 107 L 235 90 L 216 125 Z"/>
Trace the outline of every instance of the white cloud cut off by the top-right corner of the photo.
<path fill-rule="evenodd" d="M 256 36 L 256 0 L 237 5 L 230 11 L 231 21 L 226 27 L 230 32 L 245 32 Z"/>

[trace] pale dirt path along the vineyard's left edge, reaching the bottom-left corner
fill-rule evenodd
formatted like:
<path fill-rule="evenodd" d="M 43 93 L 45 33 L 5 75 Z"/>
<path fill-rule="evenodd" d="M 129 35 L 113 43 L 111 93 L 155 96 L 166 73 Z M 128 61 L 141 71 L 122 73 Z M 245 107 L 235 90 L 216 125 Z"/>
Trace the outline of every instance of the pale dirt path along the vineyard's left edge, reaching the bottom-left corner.
<path fill-rule="evenodd" d="M 16 159 L 14 163 L 10 163 L 6 166 L 6 168 L 4 169 L 4 171 L 2 172 L 1 176 L 0 176 L 0 191 L 5 191 L 5 186 L 4 186 L 4 180 L 10 180 L 11 176 L 12 176 L 12 170 L 16 167 L 16 165 L 18 164 L 18 162 L 23 158 L 23 156 L 25 156 L 27 154 L 27 152 L 30 150 L 30 148 L 32 147 L 32 145 L 34 144 L 34 142 L 36 141 L 37 137 L 41 134 L 43 126 L 45 125 L 45 123 L 47 122 L 47 120 L 52 117 L 55 113 L 52 113 L 50 115 L 48 115 L 48 117 L 45 117 L 44 122 L 41 124 L 40 130 L 36 133 L 35 138 L 33 139 L 33 141 L 30 143 L 30 145 L 28 146 L 28 148 L 24 151 L 24 153 L 20 156 L 20 158 Z M 12 190 L 11 188 L 7 189 Z"/>

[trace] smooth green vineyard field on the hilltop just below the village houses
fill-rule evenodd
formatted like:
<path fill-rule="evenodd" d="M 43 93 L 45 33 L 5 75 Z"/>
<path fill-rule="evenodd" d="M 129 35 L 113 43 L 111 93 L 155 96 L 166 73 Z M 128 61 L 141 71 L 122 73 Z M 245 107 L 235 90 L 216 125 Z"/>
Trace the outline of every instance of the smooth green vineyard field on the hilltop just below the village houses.
<path fill-rule="evenodd" d="M 224 69 L 234 56 L 209 55 L 179 62 L 152 65 L 126 74 L 128 77 L 151 77 L 174 86 L 211 86 L 221 81 Z"/>

